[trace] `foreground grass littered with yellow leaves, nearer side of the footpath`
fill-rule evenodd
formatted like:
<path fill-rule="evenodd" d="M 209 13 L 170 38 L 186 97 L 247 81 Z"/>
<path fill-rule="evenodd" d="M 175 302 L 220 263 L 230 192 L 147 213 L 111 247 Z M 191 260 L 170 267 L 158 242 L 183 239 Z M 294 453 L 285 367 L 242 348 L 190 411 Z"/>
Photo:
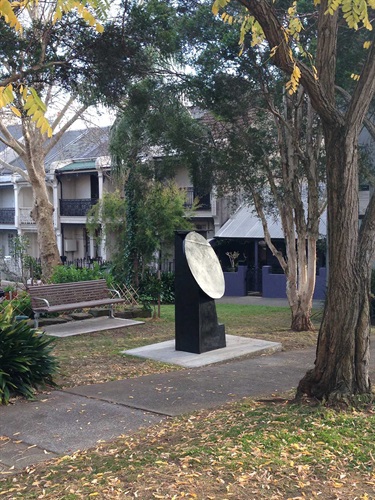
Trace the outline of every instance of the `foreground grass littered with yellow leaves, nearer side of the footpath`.
<path fill-rule="evenodd" d="M 374 407 L 243 402 L 0 479 L 0 498 L 375 498 Z"/>

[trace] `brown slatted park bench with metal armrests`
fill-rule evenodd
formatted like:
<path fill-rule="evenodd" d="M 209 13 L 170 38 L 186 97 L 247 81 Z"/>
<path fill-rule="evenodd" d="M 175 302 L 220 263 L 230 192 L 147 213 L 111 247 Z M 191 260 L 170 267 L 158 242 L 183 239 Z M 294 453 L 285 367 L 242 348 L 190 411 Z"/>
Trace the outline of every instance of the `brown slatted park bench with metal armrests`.
<path fill-rule="evenodd" d="M 35 328 L 38 328 L 41 313 L 108 305 L 108 315 L 113 317 L 113 305 L 125 302 L 117 290 L 111 290 L 107 287 L 107 283 L 103 279 L 29 286 L 27 291 L 31 297 Z M 116 295 L 116 297 L 111 295 Z"/>

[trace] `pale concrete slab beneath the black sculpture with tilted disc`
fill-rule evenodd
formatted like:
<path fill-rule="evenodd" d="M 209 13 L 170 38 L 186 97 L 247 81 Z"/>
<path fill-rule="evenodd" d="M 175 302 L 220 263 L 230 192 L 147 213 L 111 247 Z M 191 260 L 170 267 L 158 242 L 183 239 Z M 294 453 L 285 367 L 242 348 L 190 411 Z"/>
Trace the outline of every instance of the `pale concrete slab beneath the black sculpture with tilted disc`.
<path fill-rule="evenodd" d="M 123 351 L 123 354 L 153 359 L 155 361 L 171 363 L 186 368 L 196 368 L 198 366 L 220 363 L 246 355 L 259 356 L 261 354 L 271 354 L 281 351 L 282 349 L 282 345 L 279 342 L 268 342 L 247 337 L 237 337 L 235 335 L 226 335 L 226 341 L 226 347 L 204 352 L 202 354 L 176 351 L 174 340 L 137 347 L 136 349 Z"/>

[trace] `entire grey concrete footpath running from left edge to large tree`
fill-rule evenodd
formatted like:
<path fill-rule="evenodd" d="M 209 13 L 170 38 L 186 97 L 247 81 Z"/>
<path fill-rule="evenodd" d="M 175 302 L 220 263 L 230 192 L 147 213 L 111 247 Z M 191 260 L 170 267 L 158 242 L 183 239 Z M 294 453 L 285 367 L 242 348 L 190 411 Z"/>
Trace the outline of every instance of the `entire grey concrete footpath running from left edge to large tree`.
<path fill-rule="evenodd" d="M 0 406 L 0 474 L 94 447 L 141 427 L 296 387 L 314 349 L 276 352 L 134 379 L 55 390 Z"/>

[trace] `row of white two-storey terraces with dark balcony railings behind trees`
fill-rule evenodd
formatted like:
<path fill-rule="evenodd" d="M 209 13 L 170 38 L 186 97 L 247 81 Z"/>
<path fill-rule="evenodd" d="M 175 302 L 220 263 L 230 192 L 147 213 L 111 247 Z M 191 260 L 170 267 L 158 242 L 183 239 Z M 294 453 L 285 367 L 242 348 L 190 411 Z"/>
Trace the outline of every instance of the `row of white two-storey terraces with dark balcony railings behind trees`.
<path fill-rule="evenodd" d="M 11 132 L 19 132 L 20 136 L 16 127 Z M 46 182 L 55 208 L 54 227 L 63 261 L 111 257 L 105 244 L 98 244 L 86 229 L 90 207 L 105 192 L 115 189 L 111 179 L 108 139 L 109 128 L 71 130 L 46 158 Z M 13 151 L 1 143 L 0 159 L 14 167 L 25 168 Z M 197 191 L 186 169 L 177 167 L 176 182 L 186 193 L 186 208 L 191 208 Z M 31 186 L 21 175 L 6 167 L 0 170 L 0 252 L 3 256 L 10 255 L 16 235 L 27 236 L 29 254 L 39 256 L 36 226 L 30 215 L 32 204 Z M 194 213 L 193 222 L 196 230 L 212 238 L 229 215 L 226 200 L 217 199 L 211 192 L 200 197 L 200 207 Z"/>

